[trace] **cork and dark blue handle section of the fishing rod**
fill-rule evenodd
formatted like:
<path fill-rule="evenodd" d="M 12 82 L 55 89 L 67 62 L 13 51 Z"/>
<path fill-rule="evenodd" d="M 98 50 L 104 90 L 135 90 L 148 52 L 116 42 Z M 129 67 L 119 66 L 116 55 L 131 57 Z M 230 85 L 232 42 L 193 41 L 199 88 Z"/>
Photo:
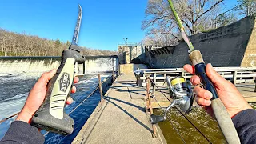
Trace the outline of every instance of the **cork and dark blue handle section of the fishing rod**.
<path fill-rule="evenodd" d="M 206 75 L 206 65 L 202 59 L 202 54 L 199 50 L 194 50 L 190 54 L 190 61 L 195 69 L 195 74 L 197 74 L 202 81 L 202 84 L 206 90 L 209 90 L 213 94 L 211 99 L 211 107 L 214 111 L 214 116 L 218 122 L 218 126 L 222 130 L 222 134 L 226 138 L 228 143 L 240 143 L 238 137 L 238 132 L 234 127 L 234 123 L 230 118 L 230 114 L 227 112 L 226 107 L 220 98 L 218 98 L 218 93 L 210 81 L 210 78 Z"/>

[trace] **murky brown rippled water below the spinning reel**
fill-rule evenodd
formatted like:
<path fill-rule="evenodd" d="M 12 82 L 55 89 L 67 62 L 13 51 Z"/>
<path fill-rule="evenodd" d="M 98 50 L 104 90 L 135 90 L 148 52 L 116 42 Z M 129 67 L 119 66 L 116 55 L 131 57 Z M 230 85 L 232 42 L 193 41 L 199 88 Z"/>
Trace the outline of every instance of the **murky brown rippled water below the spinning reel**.
<path fill-rule="evenodd" d="M 250 103 L 250 106 L 254 109 L 256 108 L 255 103 Z M 161 109 L 158 109 L 154 110 L 154 114 L 161 115 L 163 113 Z M 173 108 L 168 113 L 167 117 L 167 121 L 158 123 L 167 143 L 226 143 L 217 121 L 209 114 L 206 114 L 206 111 L 200 106 L 194 106 L 190 114 L 186 114 L 186 118 L 188 118 L 208 140 L 202 136 L 177 109 Z"/>

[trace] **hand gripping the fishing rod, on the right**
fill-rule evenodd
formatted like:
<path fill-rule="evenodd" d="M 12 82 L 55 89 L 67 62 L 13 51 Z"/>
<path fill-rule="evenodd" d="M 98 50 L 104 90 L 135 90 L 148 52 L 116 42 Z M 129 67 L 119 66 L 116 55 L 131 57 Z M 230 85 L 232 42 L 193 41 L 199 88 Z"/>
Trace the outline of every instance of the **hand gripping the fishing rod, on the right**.
<path fill-rule="evenodd" d="M 185 65 L 183 68 L 190 74 L 195 74 L 194 66 Z M 210 78 L 210 81 L 213 82 L 218 97 L 222 100 L 227 112 L 230 114 L 230 118 L 233 118 L 234 115 L 242 110 L 252 109 L 238 89 L 231 82 L 222 78 L 210 63 L 206 65 L 206 75 Z M 192 76 L 190 82 L 195 86 L 193 90 L 197 95 L 195 101 L 198 102 L 198 105 L 204 106 L 206 112 L 213 116 L 213 111 L 210 107 L 210 99 L 212 98 L 210 91 L 202 89 L 200 86 L 196 86 L 201 83 L 200 78 L 197 75 Z"/>

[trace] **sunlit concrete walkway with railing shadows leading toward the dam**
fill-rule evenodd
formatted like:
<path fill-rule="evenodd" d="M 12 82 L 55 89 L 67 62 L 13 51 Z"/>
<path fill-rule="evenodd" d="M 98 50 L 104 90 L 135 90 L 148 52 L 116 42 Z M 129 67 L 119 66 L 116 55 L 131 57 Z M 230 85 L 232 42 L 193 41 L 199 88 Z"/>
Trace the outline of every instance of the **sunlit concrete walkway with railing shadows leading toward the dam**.
<path fill-rule="evenodd" d="M 152 138 L 145 89 L 136 86 L 134 74 L 122 74 L 72 143 L 165 143 L 157 131 L 158 138 Z"/>

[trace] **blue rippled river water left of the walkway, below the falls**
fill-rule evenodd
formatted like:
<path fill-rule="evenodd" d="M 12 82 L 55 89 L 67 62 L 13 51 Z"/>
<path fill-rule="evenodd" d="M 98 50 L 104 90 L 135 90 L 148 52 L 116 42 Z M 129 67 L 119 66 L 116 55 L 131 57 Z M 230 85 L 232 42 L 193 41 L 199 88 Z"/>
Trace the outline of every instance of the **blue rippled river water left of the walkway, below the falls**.
<path fill-rule="evenodd" d="M 30 89 L 34 86 L 41 74 L 12 74 L 2 76 L 0 79 L 0 119 L 6 118 L 12 114 L 17 113 L 22 109 L 26 97 L 29 94 Z M 106 78 L 108 74 L 102 75 Z M 80 81 L 75 84 L 77 92 L 71 94 L 74 102 L 70 106 L 66 106 L 66 113 L 70 113 L 76 106 L 79 105 L 82 100 L 88 97 L 88 95 L 98 86 L 98 75 L 86 74 L 80 78 Z M 94 108 L 98 105 L 100 100 L 100 94 L 98 90 L 85 102 L 82 103 L 78 109 L 74 110 L 70 117 L 74 119 L 74 133 L 68 136 L 62 136 L 59 134 L 46 134 L 46 143 L 70 143 L 78 134 L 78 131 L 82 128 L 86 120 L 90 117 L 90 114 L 94 111 Z M 10 118 L 6 122 L 0 124 L 0 139 L 8 130 L 10 123 L 15 118 Z M 42 130 L 42 134 L 46 132 Z"/>

